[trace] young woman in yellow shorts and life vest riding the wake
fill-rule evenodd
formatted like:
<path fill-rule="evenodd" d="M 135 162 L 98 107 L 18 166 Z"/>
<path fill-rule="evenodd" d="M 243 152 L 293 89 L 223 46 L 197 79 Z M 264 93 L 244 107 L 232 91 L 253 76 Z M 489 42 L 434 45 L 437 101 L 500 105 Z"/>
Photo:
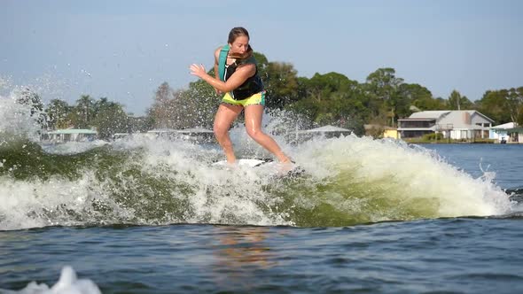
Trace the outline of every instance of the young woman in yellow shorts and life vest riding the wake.
<path fill-rule="evenodd" d="M 228 44 L 215 50 L 215 77 L 208 75 L 204 66 L 196 64 L 191 65 L 191 74 L 207 81 L 217 93 L 225 93 L 215 115 L 214 131 L 228 163 L 236 161 L 229 137 L 230 124 L 242 110 L 245 110 L 247 134 L 281 163 L 291 163 L 274 139 L 262 132 L 265 90 L 245 28 L 231 29 Z"/>

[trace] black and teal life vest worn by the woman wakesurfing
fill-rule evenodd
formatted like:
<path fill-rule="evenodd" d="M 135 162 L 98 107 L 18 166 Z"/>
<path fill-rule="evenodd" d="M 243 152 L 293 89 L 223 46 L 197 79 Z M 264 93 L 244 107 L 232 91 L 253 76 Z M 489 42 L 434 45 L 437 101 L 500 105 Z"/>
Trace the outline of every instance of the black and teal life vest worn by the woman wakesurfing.
<path fill-rule="evenodd" d="M 220 50 L 220 57 L 218 58 L 218 75 L 221 81 L 227 81 L 229 77 L 234 74 L 236 68 L 239 66 L 236 62 L 232 65 L 227 66 L 227 55 L 229 54 L 229 44 L 222 47 Z M 256 59 L 254 56 L 246 58 L 240 64 L 252 63 L 256 65 Z M 253 96 L 256 93 L 260 93 L 263 90 L 262 79 L 258 75 L 258 67 L 256 66 L 256 73 L 248 78 L 243 84 L 237 89 L 230 91 L 230 96 L 235 100 L 243 100 Z"/>

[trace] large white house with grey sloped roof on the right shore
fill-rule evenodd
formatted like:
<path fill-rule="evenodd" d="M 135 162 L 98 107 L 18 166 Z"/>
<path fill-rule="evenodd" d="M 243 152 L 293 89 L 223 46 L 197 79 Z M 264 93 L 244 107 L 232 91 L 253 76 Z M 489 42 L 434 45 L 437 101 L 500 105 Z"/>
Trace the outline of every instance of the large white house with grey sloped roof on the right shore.
<path fill-rule="evenodd" d="M 398 120 L 402 138 L 440 133 L 445 138 L 469 140 L 488 138 L 494 120 L 477 111 L 414 112 L 408 119 Z"/>

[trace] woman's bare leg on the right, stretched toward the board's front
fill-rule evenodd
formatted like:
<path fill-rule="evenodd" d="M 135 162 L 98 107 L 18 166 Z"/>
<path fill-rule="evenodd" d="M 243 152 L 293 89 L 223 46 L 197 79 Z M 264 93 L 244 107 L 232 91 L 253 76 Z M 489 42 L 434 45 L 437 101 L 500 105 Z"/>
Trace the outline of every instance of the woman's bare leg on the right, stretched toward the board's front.
<path fill-rule="evenodd" d="M 284 152 L 279 148 L 276 141 L 269 135 L 262 131 L 262 115 L 263 105 L 252 104 L 247 105 L 245 109 L 246 114 L 246 129 L 247 134 L 251 136 L 263 148 L 273 153 L 280 162 L 290 162 L 291 160 L 285 156 Z"/>

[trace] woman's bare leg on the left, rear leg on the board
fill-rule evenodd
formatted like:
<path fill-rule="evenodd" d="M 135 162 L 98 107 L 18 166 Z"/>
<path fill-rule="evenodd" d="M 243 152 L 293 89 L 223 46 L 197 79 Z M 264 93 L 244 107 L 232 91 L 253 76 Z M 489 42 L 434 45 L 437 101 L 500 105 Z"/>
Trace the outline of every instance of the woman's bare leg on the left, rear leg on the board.
<path fill-rule="evenodd" d="M 234 163 L 236 161 L 236 156 L 234 156 L 234 150 L 232 149 L 232 142 L 230 142 L 229 137 L 230 124 L 236 120 L 242 109 L 243 107 L 239 105 L 220 104 L 218 112 L 216 112 L 215 115 L 215 125 L 213 128 L 215 137 L 218 143 L 220 143 L 220 146 L 222 146 L 228 163 Z"/>

